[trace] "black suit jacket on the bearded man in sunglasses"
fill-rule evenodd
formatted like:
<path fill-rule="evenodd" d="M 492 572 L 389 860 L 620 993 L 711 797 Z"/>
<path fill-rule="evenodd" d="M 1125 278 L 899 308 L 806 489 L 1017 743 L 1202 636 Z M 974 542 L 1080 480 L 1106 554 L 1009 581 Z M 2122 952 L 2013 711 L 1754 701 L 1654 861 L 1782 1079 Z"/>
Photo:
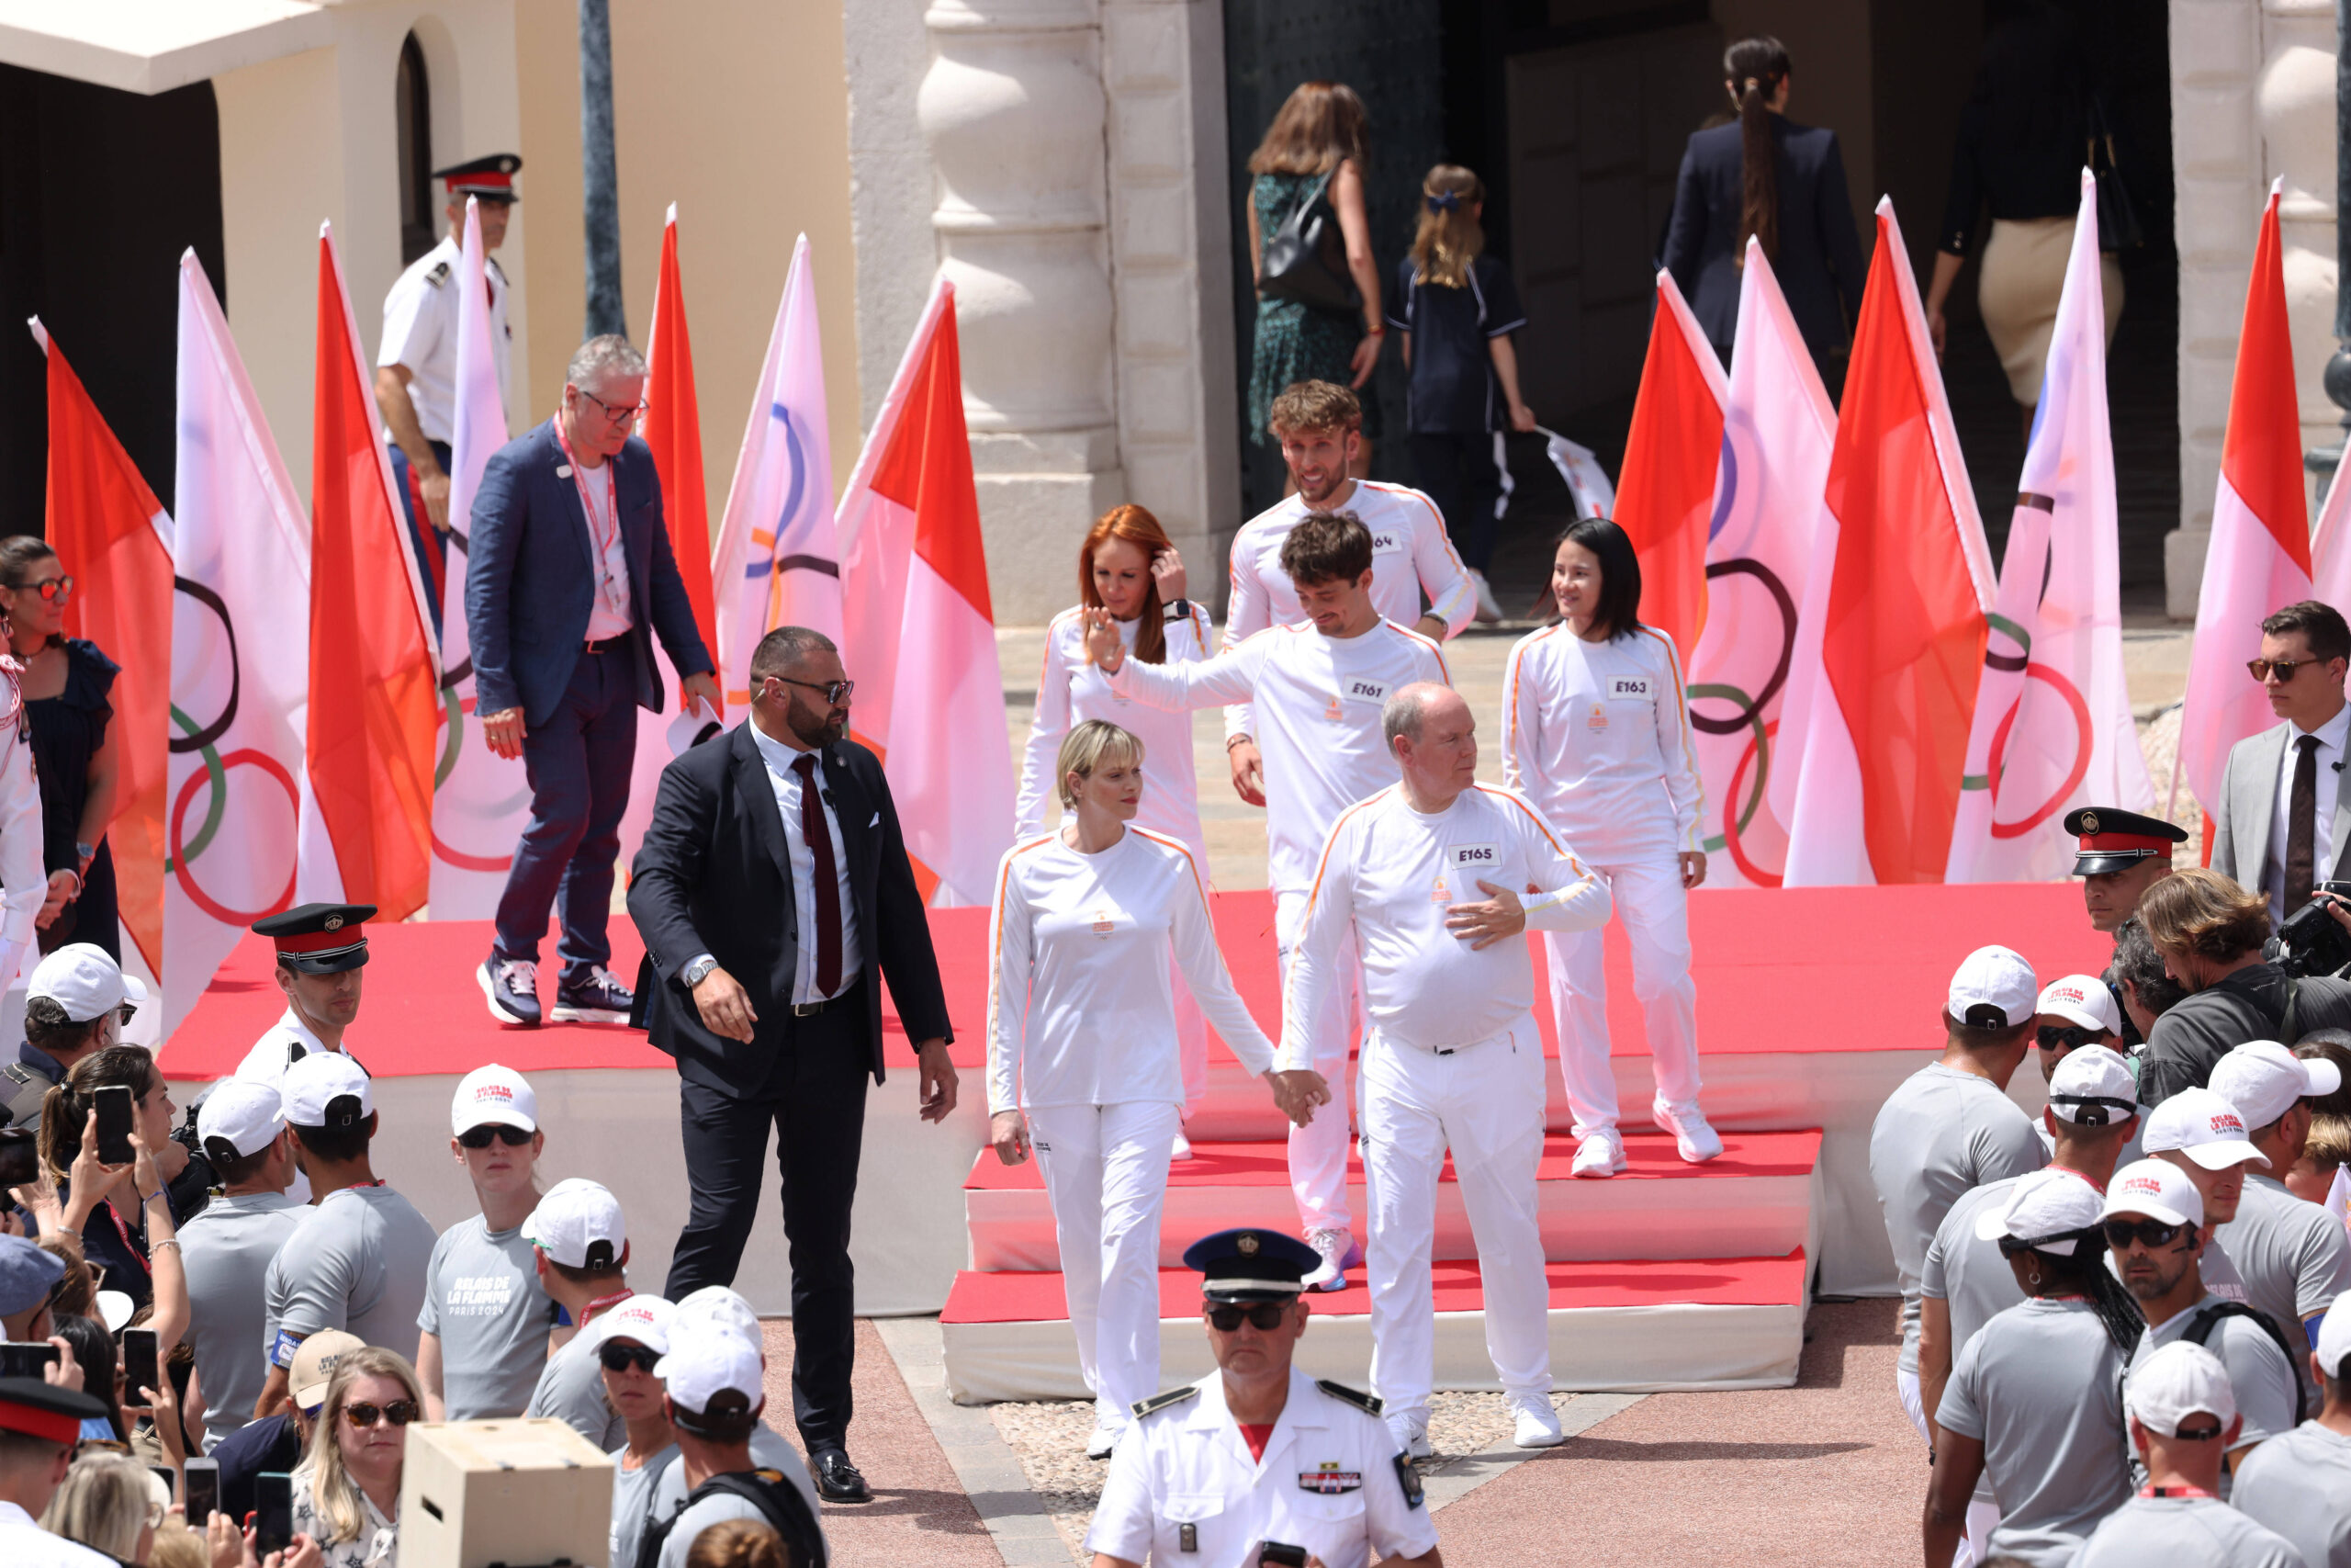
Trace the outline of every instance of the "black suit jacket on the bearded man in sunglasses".
<path fill-rule="evenodd" d="M 818 769 L 849 856 L 849 898 L 868 978 L 863 1023 L 879 1084 L 882 987 L 875 971 L 889 980 L 907 1039 L 952 1039 L 947 999 L 882 764 L 863 745 L 837 741 L 820 752 Z M 661 771 L 654 823 L 630 872 L 628 912 L 644 936 L 630 1023 L 677 1058 L 679 1077 L 729 1095 L 757 1093 L 792 1020 L 799 912 L 783 813 L 750 722 Z M 759 1016 L 750 1044 L 703 1025 L 679 978 L 703 952 L 750 992 Z"/>

